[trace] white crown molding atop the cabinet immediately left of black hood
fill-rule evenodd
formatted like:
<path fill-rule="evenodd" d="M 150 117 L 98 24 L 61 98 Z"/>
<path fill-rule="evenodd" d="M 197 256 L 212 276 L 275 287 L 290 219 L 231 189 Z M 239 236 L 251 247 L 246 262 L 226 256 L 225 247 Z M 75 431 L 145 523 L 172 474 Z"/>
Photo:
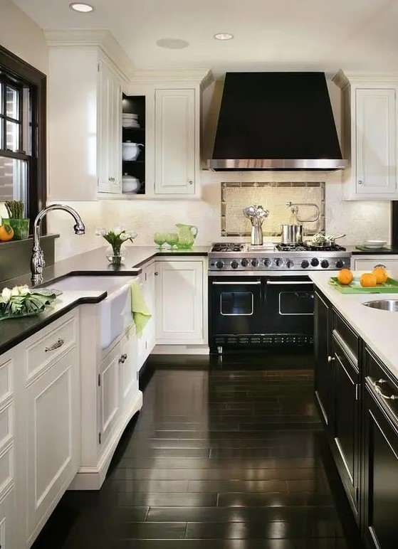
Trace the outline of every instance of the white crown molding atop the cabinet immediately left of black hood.
<path fill-rule="evenodd" d="M 135 70 L 132 75 L 132 84 L 148 83 L 178 83 L 187 82 L 200 85 L 202 89 L 213 82 L 214 76 L 209 69 L 170 69 L 170 70 Z"/>

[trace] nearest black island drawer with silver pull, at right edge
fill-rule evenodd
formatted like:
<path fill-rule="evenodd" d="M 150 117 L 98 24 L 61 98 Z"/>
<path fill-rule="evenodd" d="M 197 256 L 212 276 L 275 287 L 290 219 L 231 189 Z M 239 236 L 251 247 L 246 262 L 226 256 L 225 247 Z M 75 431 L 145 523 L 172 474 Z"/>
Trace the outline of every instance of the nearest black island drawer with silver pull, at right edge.
<path fill-rule="evenodd" d="M 377 394 L 379 402 L 384 405 L 390 419 L 398 427 L 398 380 L 367 347 L 365 347 L 365 376 L 372 393 Z"/>

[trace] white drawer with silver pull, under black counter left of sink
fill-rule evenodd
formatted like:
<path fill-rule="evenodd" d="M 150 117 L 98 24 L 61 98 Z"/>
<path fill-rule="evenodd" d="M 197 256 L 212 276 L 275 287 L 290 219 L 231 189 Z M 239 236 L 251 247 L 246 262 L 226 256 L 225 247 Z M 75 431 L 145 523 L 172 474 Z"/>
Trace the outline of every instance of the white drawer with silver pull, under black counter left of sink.
<path fill-rule="evenodd" d="M 36 336 L 29 339 L 26 346 L 26 380 L 37 378 L 48 364 L 65 353 L 78 339 L 78 326 L 75 315 L 63 316 Z"/>

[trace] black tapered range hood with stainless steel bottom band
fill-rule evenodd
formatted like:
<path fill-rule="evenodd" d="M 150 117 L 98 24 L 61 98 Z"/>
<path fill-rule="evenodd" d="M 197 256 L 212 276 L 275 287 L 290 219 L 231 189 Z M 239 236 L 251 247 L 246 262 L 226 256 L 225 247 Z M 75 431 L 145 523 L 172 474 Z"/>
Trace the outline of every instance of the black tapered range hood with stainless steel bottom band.
<path fill-rule="evenodd" d="M 226 73 L 213 171 L 345 168 L 325 73 Z"/>

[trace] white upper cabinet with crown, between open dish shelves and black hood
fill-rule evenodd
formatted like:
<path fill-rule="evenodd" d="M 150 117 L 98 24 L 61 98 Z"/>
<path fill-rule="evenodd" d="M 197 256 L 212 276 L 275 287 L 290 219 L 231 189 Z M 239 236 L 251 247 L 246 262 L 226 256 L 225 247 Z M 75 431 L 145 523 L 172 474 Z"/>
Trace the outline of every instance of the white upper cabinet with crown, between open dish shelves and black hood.
<path fill-rule="evenodd" d="M 210 80 L 203 70 L 142 71 L 127 86 L 127 97 L 145 97 L 145 191 L 129 198 L 200 196 L 200 97 Z"/>

